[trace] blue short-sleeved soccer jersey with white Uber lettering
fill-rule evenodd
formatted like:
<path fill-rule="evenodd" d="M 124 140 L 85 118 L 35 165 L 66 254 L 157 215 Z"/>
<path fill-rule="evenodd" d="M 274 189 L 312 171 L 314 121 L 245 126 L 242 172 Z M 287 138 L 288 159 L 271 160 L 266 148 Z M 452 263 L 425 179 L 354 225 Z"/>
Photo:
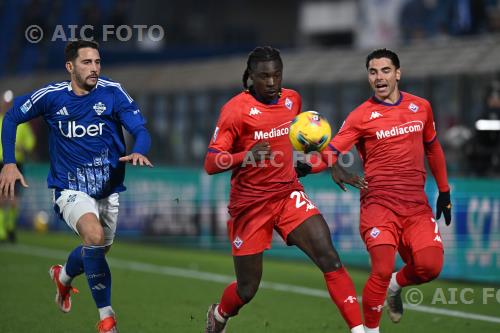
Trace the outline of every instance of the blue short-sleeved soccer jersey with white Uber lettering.
<path fill-rule="evenodd" d="M 9 113 L 16 124 L 42 116 L 49 126 L 49 188 L 96 199 L 125 190 L 125 163 L 118 161 L 126 153 L 122 126 L 133 133 L 145 120 L 119 83 L 99 78 L 83 96 L 70 81 L 50 84 L 16 98 Z"/>

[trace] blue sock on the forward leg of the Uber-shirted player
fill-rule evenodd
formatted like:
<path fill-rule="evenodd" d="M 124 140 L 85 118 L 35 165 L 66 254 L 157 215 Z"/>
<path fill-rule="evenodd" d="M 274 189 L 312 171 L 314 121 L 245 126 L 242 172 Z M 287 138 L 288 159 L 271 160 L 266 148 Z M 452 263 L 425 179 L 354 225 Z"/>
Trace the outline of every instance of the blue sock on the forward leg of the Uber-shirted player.
<path fill-rule="evenodd" d="M 98 308 L 111 305 L 111 272 L 104 246 L 83 247 L 83 268 Z"/>

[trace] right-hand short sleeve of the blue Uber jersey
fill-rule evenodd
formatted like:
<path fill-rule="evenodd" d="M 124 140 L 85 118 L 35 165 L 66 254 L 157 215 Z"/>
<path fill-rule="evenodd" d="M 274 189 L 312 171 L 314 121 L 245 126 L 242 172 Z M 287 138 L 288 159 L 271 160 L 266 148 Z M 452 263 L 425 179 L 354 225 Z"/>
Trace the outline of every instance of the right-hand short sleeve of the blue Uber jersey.
<path fill-rule="evenodd" d="M 118 118 L 123 127 L 129 133 L 133 133 L 138 126 L 144 126 L 146 120 L 132 97 L 120 85 L 117 85 L 113 89 Z"/>

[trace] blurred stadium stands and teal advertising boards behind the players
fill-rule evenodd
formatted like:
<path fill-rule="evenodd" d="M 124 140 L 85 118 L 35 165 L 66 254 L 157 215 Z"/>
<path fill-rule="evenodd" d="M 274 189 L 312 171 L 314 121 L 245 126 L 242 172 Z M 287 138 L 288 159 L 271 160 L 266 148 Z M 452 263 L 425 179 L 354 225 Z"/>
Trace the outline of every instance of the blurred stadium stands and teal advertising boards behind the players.
<path fill-rule="evenodd" d="M 37 43 L 25 35 L 31 25 L 44 32 Z M 0 0 L 0 91 L 21 94 L 67 79 L 64 45 L 85 25 L 93 27 L 85 36 L 101 43 L 102 75 L 134 97 L 153 136 L 155 169 L 127 170 L 120 241 L 229 251 L 230 175 L 209 177 L 202 165 L 218 111 L 242 89 L 255 46 L 282 50 L 284 86 L 297 89 L 304 110 L 320 111 L 335 130 L 371 95 L 366 54 L 388 47 L 401 59 L 402 90 L 433 105 L 447 157 L 454 209 L 452 225 L 441 227 L 442 278 L 500 282 L 500 1 Z M 103 41 L 104 25 L 158 25 L 164 36 L 139 41 L 134 30 L 131 38 Z M 46 188 L 47 129 L 40 119 L 31 124 L 37 146 L 25 167 L 30 188 L 18 225 L 67 231 Z M 361 170 L 359 161 L 353 168 Z M 368 268 L 357 192 L 341 193 L 328 174 L 303 182 L 344 262 Z M 430 175 L 426 190 L 433 206 Z M 279 239 L 269 254 L 303 258 Z"/>

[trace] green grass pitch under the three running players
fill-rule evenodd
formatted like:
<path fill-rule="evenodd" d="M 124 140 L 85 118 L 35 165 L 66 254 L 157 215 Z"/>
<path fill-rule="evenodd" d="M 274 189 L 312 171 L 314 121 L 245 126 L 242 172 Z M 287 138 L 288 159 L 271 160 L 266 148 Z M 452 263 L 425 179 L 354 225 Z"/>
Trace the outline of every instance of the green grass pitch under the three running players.
<path fill-rule="evenodd" d="M 64 263 L 77 244 L 78 239 L 70 234 L 22 232 L 18 245 L 0 245 L 0 332 L 95 332 L 98 316 L 85 278 L 74 281 L 80 293 L 73 296 L 72 311 L 63 314 L 54 304 L 55 288 L 47 273 L 51 265 Z M 121 333 L 203 332 L 207 307 L 218 301 L 234 276 L 229 253 L 117 239 L 108 258 L 113 308 Z M 360 295 L 368 273 L 348 269 Z M 312 263 L 266 258 L 263 281 L 252 302 L 231 319 L 228 332 L 349 331 L 335 305 L 325 297 L 323 276 Z M 450 294 L 454 288 L 457 298 L 466 290 L 467 304 L 459 299 L 454 302 Z M 407 308 L 399 324 L 391 323 L 384 313 L 381 331 L 499 332 L 500 299 L 489 297 L 483 304 L 484 288 L 490 288 L 488 295 L 491 290 L 500 295 L 499 286 L 441 280 L 419 286 L 426 307 Z M 436 294 L 436 290 L 443 293 Z M 471 319 L 471 314 L 483 317 Z"/>

